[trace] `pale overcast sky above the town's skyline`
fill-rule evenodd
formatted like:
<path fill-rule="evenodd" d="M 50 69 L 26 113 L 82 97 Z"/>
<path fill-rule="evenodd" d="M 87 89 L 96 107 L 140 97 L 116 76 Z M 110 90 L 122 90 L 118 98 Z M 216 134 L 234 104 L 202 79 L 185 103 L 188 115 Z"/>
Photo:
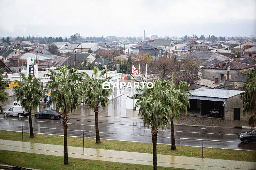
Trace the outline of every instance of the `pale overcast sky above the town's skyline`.
<path fill-rule="evenodd" d="M 256 0 L 1 0 L 0 36 L 256 35 Z"/>

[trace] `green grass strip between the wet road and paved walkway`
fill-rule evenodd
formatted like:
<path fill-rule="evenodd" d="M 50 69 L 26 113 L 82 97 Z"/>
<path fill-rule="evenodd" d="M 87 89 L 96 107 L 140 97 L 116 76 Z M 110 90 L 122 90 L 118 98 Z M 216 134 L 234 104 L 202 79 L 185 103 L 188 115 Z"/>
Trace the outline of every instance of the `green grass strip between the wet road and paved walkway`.
<path fill-rule="evenodd" d="M 21 132 L 0 131 L 0 139 L 21 141 Z M 82 147 L 82 138 L 67 137 L 67 139 L 69 146 Z M 58 135 L 35 134 L 35 138 L 29 138 L 29 133 L 24 133 L 24 141 L 63 145 L 63 137 Z M 101 140 L 101 142 L 101 144 L 95 144 L 95 139 L 85 138 L 85 147 L 152 153 L 151 143 L 126 142 L 118 140 Z M 170 145 L 157 145 L 157 154 L 201 157 L 202 148 L 177 146 L 177 150 L 172 151 L 170 149 Z M 256 162 L 256 151 L 204 148 L 204 157 Z"/>

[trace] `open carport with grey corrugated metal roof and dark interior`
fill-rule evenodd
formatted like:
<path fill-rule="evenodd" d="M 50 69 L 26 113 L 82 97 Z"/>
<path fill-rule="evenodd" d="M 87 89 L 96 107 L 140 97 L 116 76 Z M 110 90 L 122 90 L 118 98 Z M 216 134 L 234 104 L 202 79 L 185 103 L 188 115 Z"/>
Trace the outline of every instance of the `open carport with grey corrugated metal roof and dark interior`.
<path fill-rule="evenodd" d="M 208 116 L 213 108 L 219 108 L 221 117 L 225 119 L 225 106 L 227 99 L 239 95 L 242 91 L 199 88 L 190 90 L 190 108 L 188 112 L 196 116 Z M 232 100 L 229 100 L 231 103 Z"/>

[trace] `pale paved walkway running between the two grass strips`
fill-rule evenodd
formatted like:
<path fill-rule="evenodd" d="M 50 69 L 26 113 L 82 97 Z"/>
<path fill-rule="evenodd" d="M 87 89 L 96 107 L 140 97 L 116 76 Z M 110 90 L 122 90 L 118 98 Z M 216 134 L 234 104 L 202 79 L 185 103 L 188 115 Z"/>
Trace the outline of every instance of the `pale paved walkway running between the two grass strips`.
<path fill-rule="evenodd" d="M 0 150 L 64 156 L 63 146 L 0 139 Z M 83 158 L 83 148 L 68 147 L 69 157 Z M 109 162 L 152 165 L 152 154 L 85 148 L 85 158 Z M 256 162 L 157 155 L 157 166 L 185 169 L 256 169 Z"/>

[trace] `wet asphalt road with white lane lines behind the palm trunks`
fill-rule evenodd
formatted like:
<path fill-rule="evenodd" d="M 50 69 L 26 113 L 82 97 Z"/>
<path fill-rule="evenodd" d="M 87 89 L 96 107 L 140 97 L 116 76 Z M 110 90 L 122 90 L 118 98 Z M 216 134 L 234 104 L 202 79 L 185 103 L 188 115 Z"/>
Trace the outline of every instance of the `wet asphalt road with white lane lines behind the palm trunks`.
<path fill-rule="evenodd" d="M 91 116 L 93 117 L 93 116 Z M 61 120 L 33 119 L 35 133 L 63 135 Z M 121 119 L 121 118 L 120 118 Z M 29 132 L 28 118 L 23 118 L 23 130 Z M 17 116 L 0 115 L 0 130 L 21 131 L 21 118 Z M 69 136 L 81 137 L 81 130 L 86 130 L 85 137 L 95 138 L 95 126 L 92 119 L 70 118 L 68 125 Z M 101 139 L 113 139 L 136 142 L 152 142 L 150 129 L 144 129 L 141 122 L 99 120 Z M 256 150 L 256 143 L 242 143 L 237 134 L 246 131 L 232 128 L 207 128 L 204 132 L 204 147 Z M 170 129 L 160 130 L 157 143 L 170 144 Z M 202 131 L 200 127 L 175 125 L 175 138 L 177 145 L 202 146 Z"/>

